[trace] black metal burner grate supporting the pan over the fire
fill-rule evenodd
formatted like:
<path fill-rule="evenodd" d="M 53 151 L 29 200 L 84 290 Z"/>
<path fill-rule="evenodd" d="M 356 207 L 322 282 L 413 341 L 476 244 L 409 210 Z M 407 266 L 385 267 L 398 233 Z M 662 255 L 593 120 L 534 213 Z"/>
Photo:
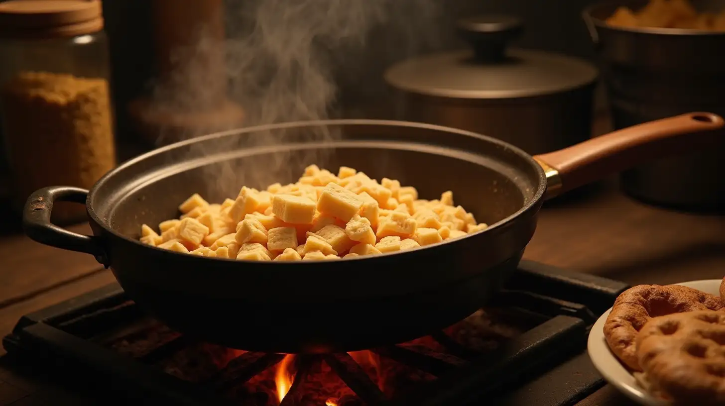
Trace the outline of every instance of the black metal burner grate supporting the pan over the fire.
<path fill-rule="evenodd" d="M 401 389 L 392 398 L 386 397 L 347 353 L 300 355 L 295 357 L 297 372 L 281 406 L 294 405 L 294 400 L 304 395 L 299 392 L 307 371 L 321 362 L 355 392 L 338 399 L 337 406 L 465 405 L 482 397 L 494 405 L 571 405 L 603 384 L 584 353 L 585 340 L 595 315 L 610 307 L 626 287 L 624 283 L 523 261 L 494 303 L 514 312 L 512 317 L 532 318 L 537 323 L 500 343 L 495 352 L 473 351 L 442 331 L 430 337 L 444 351 L 404 345 L 370 349 L 380 357 L 436 377 Z M 219 394 L 250 381 L 285 357 L 244 352 L 193 383 L 156 368 L 162 360 L 199 344 L 189 336 L 168 331 L 167 336 L 157 337 L 159 345 L 135 358 L 99 345 L 104 334 L 145 317 L 120 286 L 112 284 L 26 315 L 3 342 L 8 352 L 20 357 L 41 362 L 52 357 L 62 361 L 60 365 L 81 366 L 96 377 L 112 379 L 109 389 L 120 390 L 142 404 L 239 405 Z M 254 396 L 259 399 L 251 405 L 267 404 L 266 394 Z"/>

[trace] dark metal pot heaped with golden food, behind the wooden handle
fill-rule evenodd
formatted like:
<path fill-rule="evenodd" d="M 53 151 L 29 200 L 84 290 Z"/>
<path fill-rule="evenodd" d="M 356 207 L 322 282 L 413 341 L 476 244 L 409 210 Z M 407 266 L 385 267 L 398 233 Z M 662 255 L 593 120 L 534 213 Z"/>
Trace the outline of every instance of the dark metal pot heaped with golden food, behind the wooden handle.
<path fill-rule="evenodd" d="M 724 0 L 691 0 L 700 12 L 725 9 Z M 584 11 L 597 48 L 614 128 L 693 110 L 725 114 L 725 33 L 671 28 L 619 28 L 605 20 L 619 6 L 640 9 L 646 0 L 596 4 Z M 638 165 L 621 175 L 631 196 L 682 210 L 725 212 L 725 138 L 705 152 Z"/>

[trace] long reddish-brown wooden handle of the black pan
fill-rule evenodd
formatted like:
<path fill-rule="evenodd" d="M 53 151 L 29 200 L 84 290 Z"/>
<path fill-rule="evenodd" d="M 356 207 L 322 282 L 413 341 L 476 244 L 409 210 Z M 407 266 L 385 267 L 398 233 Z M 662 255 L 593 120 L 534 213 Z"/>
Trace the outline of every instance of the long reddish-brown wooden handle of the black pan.
<path fill-rule="evenodd" d="M 534 157 L 547 173 L 547 197 L 605 178 L 641 163 L 706 148 L 723 140 L 725 120 L 692 112 L 608 133 Z"/>

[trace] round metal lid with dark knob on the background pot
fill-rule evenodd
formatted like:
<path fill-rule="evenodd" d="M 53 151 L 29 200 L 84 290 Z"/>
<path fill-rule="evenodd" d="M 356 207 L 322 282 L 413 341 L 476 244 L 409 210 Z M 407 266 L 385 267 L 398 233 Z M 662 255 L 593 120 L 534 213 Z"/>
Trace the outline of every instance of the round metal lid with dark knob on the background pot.
<path fill-rule="evenodd" d="M 417 94 L 462 99 L 509 99 L 567 91 L 592 83 L 588 62 L 543 51 L 508 49 L 521 34 L 516 17 L 484 15 L 457 23 L 471 50 L 415 57 L 390 67 L 385 80 Z"/>

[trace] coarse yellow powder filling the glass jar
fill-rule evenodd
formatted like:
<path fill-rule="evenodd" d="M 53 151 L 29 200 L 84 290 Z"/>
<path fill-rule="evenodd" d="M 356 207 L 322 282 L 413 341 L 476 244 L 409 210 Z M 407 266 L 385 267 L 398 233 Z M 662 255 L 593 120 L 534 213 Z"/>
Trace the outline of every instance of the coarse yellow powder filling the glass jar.
<path fill-rule="evenodd" d="M 115 166 L 107 80 L 22 72 L 0 105 L 17 199 L 44 186 L 91 188 Z"/>

